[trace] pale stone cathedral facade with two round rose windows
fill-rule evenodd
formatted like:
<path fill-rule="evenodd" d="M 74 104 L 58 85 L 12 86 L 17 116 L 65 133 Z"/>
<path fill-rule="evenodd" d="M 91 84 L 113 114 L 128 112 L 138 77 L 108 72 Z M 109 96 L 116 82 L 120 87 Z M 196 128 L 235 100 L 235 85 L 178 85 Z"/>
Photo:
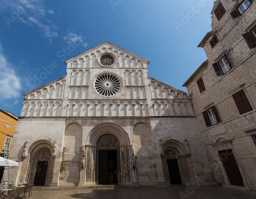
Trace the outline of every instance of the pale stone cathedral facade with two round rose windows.
<path fill-rule="evenodd" d="M 215 184 L 186 93 L 108 41 L 25 94 L 10 181 L 38 186 Z"/>

